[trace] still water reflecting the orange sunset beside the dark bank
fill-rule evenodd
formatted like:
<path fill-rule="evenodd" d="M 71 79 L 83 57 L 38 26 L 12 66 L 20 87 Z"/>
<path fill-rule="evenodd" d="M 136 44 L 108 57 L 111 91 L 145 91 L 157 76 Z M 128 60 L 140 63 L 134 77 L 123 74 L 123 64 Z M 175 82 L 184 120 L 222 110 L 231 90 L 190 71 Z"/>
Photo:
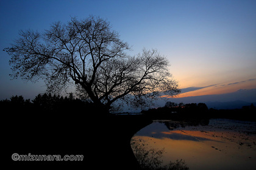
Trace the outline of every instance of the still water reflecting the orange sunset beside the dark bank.
<path fill-rule="evenodd" d="M 211 119 L 197 126 L 157 120 L 132 138 L 145 149 L 164 149 L 163 165 L 185 160 L 190 169 L 256 169 L 256 123 Z"/>

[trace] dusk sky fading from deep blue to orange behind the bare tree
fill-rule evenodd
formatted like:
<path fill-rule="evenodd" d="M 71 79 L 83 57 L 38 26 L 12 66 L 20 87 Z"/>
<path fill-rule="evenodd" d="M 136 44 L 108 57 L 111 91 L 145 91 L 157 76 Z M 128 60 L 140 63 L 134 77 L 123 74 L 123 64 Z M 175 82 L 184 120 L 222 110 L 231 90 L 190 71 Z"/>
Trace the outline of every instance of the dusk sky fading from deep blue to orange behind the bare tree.
<path fill-rule="evenodd" d="M 4 47 L 19 30 L 48 29 L 71 16 L 110 21 L 132 55 L 158 49 L 183 93 L 178 97 L 225 94 L 256 88 L 256 1 L 0 1 L 0 100 L 34 98 L 43 82 L 10 80 Z M 256 95 L 255 95 L 256 99 Z"/>

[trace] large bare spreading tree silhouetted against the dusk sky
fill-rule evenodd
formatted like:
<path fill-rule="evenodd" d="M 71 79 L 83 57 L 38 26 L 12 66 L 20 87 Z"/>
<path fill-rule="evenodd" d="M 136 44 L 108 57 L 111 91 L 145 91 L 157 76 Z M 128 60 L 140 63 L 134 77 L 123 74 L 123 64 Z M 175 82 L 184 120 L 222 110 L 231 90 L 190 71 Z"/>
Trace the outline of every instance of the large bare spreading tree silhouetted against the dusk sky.
<path fill-rule="evenodd" d="M 43 79 L 49 92 L 76 84 L 80 94 L 107 110 L 117 100 L 137 106 L 180 92 L 165 56 L 146 49 L 128 55 L 127 42 L 109 22 L 94 16 L 55 22 L 43 33 L 21 30 L 4 50 L 11 56 L 13 78 Z"/>

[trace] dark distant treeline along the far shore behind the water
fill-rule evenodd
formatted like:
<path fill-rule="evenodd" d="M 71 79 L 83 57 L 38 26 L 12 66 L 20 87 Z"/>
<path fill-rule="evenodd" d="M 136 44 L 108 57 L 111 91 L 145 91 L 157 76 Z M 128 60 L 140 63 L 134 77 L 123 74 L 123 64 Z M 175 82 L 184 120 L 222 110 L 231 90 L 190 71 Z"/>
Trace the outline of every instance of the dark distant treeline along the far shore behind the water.
<path fill-rule="evenodd" d="M 241 109 L 208 109 L 205 103 L 172 103 L 168 101 L 164 107 L 143 110 L 143 114 L 152 119 L 202 120 L 210 118 L 229 118 L 235 120 L 256 121 L 256 107 L 243 106 Z"/>

